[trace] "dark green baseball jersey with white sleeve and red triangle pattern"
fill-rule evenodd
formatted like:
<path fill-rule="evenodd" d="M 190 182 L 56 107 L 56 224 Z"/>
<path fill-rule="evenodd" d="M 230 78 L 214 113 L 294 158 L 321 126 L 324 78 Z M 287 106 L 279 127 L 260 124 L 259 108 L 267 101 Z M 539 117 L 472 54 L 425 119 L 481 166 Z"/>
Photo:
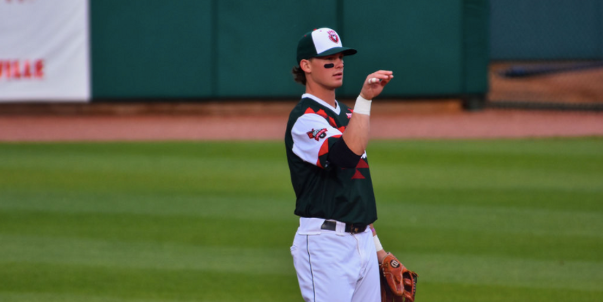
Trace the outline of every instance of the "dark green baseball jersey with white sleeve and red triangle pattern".
<path fill-rule="evenodd" d="M 297 198 L 295 215 L 371 224 L 377 219 L 373 183 L 364 153 L 356 168 L 329 162 L 329 149 L 346 129 L 352 109 L 333 108 L 308 93 L 289 115 L 285 146 Z"/>

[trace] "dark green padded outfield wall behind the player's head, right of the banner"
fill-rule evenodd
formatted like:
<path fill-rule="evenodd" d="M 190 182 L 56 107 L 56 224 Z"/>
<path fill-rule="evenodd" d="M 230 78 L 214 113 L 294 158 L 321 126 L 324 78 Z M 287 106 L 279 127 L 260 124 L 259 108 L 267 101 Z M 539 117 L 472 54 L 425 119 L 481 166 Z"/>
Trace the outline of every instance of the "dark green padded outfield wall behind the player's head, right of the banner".
<path fill-rule="evenodd" d="M 340 98 L 391 69 L 386 97 L 484 95 L 488 1 L 92 0 L 92 97 L 298 98 L 298 38 L 331 27 L 346 58 Z"/>

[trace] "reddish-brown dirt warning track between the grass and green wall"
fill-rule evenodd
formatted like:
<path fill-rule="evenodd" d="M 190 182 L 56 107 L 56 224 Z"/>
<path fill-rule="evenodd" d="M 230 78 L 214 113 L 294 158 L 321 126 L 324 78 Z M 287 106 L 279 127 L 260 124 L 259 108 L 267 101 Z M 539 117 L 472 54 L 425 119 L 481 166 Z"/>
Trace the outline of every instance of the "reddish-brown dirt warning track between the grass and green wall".
<path fill-rule="evenodd" d="M 0 115 L 0 141 L 280 140 L 293 101 L 112 105 Z M 87 108 L 85 105 L 82 108 Z M 178 110 L 175 108 L 180 106 Z M 71 109 L 69 109 L 71 108 Z M 71 111 L 69 111 L 71 110 Z M 48 110 L 47 110 L 48 111 Z M 493 110 L 466 112 L 454 100 L 376 100 L 373 139 L 487 139 L 603 136 L 603 113 Z"/>

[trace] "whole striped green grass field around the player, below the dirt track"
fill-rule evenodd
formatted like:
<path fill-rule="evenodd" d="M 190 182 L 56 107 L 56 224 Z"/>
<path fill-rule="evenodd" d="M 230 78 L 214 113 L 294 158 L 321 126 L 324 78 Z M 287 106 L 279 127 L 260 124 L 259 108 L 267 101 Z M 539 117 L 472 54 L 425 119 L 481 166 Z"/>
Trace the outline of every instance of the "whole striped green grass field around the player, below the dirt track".
<path fill-rule="evenodd" d="M 377 141 L 418 302 L 601 301 L 603 138 Z M 282 142 L 0 143 L 0 301 L 301 301 Z"/>

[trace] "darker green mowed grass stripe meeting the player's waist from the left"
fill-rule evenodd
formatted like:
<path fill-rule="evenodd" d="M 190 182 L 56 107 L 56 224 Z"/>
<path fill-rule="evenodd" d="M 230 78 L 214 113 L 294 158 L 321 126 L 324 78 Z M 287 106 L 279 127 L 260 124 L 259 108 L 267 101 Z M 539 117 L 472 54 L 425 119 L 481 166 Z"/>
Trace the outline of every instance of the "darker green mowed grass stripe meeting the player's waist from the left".
<path fill-rule="evenodd" d="M 0 212 L 0 234 L 159 242 L 224 247 L 291 244 L 297 221 L 223 217 Z"/>

